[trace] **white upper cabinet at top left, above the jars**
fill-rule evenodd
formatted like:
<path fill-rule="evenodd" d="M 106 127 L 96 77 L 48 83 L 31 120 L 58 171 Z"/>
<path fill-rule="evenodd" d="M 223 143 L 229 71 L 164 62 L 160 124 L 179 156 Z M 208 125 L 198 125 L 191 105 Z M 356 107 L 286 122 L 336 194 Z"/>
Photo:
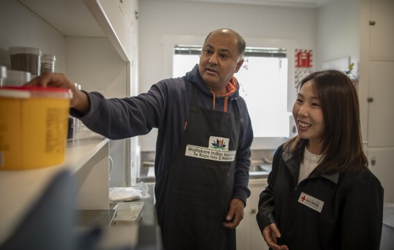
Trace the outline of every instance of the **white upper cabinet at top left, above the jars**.
<path fill-rule="evenodd" d="M 19 0 L 19 2 L 66 36 L 108 38 L 122 60 L 131 62 L 136 1 Z"/>

